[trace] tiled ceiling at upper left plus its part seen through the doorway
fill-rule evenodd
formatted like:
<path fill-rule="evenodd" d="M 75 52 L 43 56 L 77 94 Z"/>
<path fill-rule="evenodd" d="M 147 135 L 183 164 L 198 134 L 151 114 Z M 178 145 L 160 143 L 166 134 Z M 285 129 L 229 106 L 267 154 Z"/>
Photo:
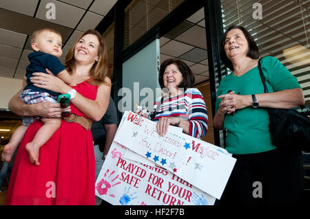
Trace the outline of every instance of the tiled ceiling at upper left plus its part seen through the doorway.
<path fill-rule="evenodd" d="M 95 28 L 117 0 L 1 0 L 0 76 L 23 78 L 28 65 L 30 35 L 41 27 L 59 30 L 63 36 L 64 62 L 77 36 Z M 48 3 L 54 3 L 56 17 L 47 19 Z M 139 13 L 137 13 L 139 14 Z M 195 74 L 195 83 L 209 79 L 205 14 L 199 10 L 161 37 L 161 60 L 180 58 Z"/>

